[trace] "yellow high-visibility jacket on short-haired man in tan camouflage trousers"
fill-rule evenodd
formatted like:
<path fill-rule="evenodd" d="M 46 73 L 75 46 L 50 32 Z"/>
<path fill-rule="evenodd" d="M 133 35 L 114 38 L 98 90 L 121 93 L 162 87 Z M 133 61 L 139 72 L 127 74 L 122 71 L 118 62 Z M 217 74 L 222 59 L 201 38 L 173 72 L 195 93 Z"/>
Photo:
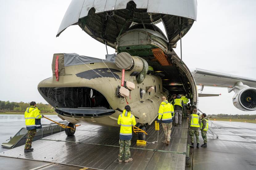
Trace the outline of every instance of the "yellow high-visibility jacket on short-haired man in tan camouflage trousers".
<path fill-rule="evenodd" d="M 170 123 L 172 122 L 172 115 L 174 115 L 172 104 L 168 103 L 167 100 L 162 101 L 161 105 L 159 106 L 157 119 L 160 121 L 162 118 L 163 123 Z"/>

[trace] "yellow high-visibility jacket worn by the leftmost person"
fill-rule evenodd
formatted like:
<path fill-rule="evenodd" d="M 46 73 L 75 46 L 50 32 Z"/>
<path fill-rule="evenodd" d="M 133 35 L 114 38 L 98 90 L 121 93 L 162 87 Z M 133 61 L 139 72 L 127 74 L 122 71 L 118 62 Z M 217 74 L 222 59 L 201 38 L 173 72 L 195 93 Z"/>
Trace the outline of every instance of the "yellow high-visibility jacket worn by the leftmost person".
<path fill-rule="evenodd" d="M 27 130 L 42 128 L 40 119 L 43 116 L 40 115 L 40 110 L 37 107 L 28 107 L 24 113 L 24 116 Z"/>

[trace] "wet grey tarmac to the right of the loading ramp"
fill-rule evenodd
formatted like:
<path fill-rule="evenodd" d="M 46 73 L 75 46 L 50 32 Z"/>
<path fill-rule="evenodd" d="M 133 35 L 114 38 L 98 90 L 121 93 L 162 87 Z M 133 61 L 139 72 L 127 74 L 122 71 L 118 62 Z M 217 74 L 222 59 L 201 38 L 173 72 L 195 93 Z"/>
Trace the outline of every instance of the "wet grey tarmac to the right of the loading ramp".
<path fill-rule="evenodd" d="M 219 138 L 207 133 L 207 148 L 194 148 L 193 170 L 255 170 L 256 124 L 213 121 Z M 200 132 L 200 145 L 203 139 Z"/>

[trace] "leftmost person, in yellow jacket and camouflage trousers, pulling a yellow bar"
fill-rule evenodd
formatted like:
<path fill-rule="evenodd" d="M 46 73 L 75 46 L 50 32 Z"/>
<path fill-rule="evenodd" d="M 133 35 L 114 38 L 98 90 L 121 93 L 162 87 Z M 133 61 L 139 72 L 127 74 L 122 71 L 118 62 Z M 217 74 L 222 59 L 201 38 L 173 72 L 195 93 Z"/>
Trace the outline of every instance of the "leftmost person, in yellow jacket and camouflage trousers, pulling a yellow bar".
<path fill-rule="evenodd" d="M 43 115 L 40 115 L 40 110 L 36 107 L 35 101 L 31 101 L 30 107 L 26 109 L 24 116 L 27 128 L 27 140 L 24 152 L 30 152 L 33 151 L 31 144 L 34 139 L 36 129 L 42 128 L 41 118 L 43 118 Z"/>

